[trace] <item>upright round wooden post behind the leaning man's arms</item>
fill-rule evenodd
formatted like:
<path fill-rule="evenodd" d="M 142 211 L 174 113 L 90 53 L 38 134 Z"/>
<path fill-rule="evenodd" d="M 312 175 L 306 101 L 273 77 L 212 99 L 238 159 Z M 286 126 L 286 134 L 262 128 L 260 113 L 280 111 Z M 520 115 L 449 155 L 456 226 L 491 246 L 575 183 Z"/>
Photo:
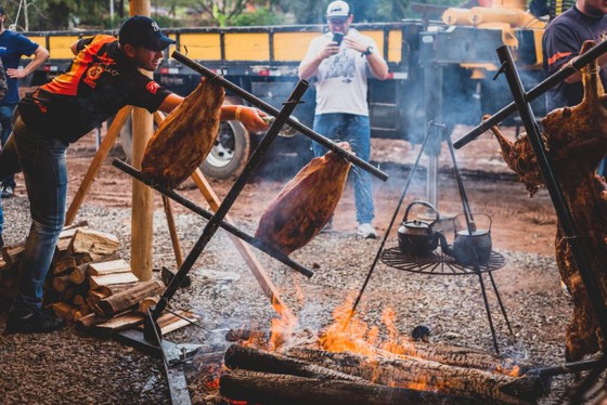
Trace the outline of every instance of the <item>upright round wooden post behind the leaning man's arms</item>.
<path fill-rule="evenodd" d="M 130 15 L 150 16 L 150 0 L 130 2 Z M 151 71 L 141 70 L 152 77 Z M 147 141 L 153 133 L 152 115 L 143 108 L 133 108 L 132 166 L 141 170 Z M 131 269 L 141 280 L 152 278 L 152 234 L 154 196 L 152 188 L 133 179 L 131 220 Z"/>

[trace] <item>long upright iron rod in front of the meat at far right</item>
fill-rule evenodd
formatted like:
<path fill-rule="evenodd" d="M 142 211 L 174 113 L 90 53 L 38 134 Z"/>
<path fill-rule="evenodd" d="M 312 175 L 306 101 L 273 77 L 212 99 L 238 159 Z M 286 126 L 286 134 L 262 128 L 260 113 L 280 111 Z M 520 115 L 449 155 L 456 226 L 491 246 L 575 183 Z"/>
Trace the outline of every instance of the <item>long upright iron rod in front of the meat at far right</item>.
<path fill-rule="evenodd" d="M 603 43 L 606 42 L 602 42 L 602 44 Z M 592 50 L 595 48 L 596 47 Z M 525 130 L 527 131 L 527 136 L 529 138 L 529 142 L 531 143 L 531 147 L 533 148 L 533 153 L 538 159 L 538 166 L 546 183 L 546 188 L 548 190 L 552 203 L 556 210 L 558 221 L 563 226 L 565 237 L 571 248 L 573 263 L 582 277 L 582 282 L 586 289 L 594 314 L 597 318 L 600 331 L 604 337 L 607 337 L 607 308 L 603 301 L 602 292 L 598 289 L 598 283 L 591 272 L 590 263 L 586 259 L 589 253 L 587 249 L 582 243 L 582 237 L 577 231 L 573 217 L 567 201 L 565 200 L 560 184 L 552 171 L 550 156 L 547 156 L 546 151 L 544 149 L 540 130 L 538 128 L 535 117 L 533 116 L 533 110 L 525 97 L 522 82 L 520 80 L 520 76 L 518 75 L 509 48 L 505 45 L 498 48 L 498 56 L 500 57 L 500 61 L 505 64 L 505 74 L 511 92 L 513 93 L 516 107 L 518 108 L 520 118 L 525 125 Z M 605 350 L 607 350 L 607 348 L 605 348 Z"/>

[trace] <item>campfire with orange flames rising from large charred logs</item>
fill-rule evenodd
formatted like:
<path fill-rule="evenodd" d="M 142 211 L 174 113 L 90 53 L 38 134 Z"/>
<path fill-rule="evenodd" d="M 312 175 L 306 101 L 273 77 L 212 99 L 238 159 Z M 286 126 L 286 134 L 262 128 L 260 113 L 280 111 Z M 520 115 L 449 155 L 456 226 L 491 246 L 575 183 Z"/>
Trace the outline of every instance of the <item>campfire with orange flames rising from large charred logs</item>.
<path fill-rule="evenodd" d="M 321 332 L 286 316 L 269 332 L 231 330 L 235 343 L 206 388 L 250 404 L 521 404 L 546 393 L 550 381 L 529 373 L 529 363 L 402 337 L 390 309 L 382 327 L 348 322 L 351 303 Z"/>

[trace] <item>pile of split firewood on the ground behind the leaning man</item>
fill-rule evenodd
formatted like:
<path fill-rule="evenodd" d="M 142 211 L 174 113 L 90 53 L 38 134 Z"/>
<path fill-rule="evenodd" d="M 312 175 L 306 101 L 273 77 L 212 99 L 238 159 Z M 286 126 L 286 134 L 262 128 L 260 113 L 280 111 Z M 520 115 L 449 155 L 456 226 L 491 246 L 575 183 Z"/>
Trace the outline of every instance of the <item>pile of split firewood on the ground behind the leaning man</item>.
<path fill-rule="evenodd" d="M 44 282 L 46 308 L 76 323 L 80 331 L 109 336 L 143 324 L 151 306 L 165 291 L 160 280 L 140 282 L 117 250 L 118 238 L 88 227 L 86 222 L 64 227 L 57 240 L 51 269 Z M 0 298 L 16 295 L 20 260 L 25 240 L 2 248 L 0 259 Z M 158 318 L 163 332 L 194 321 L 186 312 L 165 314 Z"/>

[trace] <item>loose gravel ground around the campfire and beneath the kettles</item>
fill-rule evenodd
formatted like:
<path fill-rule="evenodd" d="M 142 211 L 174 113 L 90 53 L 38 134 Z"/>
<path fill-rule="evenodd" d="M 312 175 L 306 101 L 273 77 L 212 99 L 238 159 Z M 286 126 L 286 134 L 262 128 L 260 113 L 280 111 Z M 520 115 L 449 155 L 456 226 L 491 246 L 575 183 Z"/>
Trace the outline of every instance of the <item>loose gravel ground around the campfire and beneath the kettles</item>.
<path fill-rule="evenodd" d="M 29 223 L 27 200 L 5 201 L 9 243 L 24 237 Z M 128 259 L 130 210 L 85 206 L 79 220 L 101 231 L 113 232 L 122 241 Z M 160 212 L 155 218 L 155 266 L 173 267 L 168 232 Z M 193 214 L 177 217 L 184 251 L 201 235 L 205 222 Z M 241 223 L 253 232 L 253 223 Z M 389 243 L 388 243 L 389 244 Z M 332 311 L 362 285 L 379 247 L 379 240 L 348 234 L 320 235 L 292 257 L 314 267 L 311 279 L 295 274 L 263 254 L 259 258 L 280 286 L 302 327 L 321 330 L 332 321 Z M 565 326 L 571 305 L 558 285 L 554 259 L 532 253 L 500 251 L 506 265 L 494 272 L 494 280 L 515 331 L 509 337 L 494 293 L 489 299 L 500 349 L 540 365 L 564 358 Z M 257 327 L 267 330 L 273 311 L 251 273 L 223 232 L 218 232 L 191 272 L 193 284 L 178 291 L 173 309 L 193 310 L 206 330 L 188 327 L 169 339 L 176 342 L 209 343 L 222 332 L 208 330 Z M 485 278 L 489 286 L 489 278 Z M 431 330 L 432 341 L 463 344 L 492 351 L 491 334 L 483 309 L 478 277 L 430 276 L 402 272 L 379 263 L 364 296 L 359 317 L 380 325 L 385 306 L 398 314 L 397 326 L 408 334 L 416 325 Z M 0 328 L 5 314 L 0 315 Z M 163 366 L 113 340 L 78 335 L 73 328 L 39 336 L 0 336 L 0 392 L 8 404 L 73 403 L 169 403 Z M 191 374 L 191 373 L 190 373 Z M 191 378 L 191 397 L 205 403 L 201 381 Z M 573 383 L 571 376 L 557 377 L 552 394 L 540 404 L 559 403 Z"/>

